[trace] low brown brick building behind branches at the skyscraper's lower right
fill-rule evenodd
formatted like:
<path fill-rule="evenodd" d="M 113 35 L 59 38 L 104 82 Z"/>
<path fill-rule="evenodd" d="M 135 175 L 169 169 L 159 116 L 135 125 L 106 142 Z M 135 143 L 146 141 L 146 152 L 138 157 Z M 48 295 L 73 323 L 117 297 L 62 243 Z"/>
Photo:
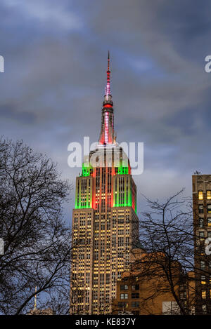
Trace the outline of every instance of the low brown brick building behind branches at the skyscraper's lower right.
<path fill-rule="evenodd" d="M 130 271 L 122 274 L 117 281 L 117 297 L 113 301 L 113 314 L 161 315 L 180 314 L 177 302 L 172 295 L 167 276 L 162 269 L 165 263 L 163 253 L 147 254 L 141 250 L 139 261 L 134 262 Z M 181 302 L 186 301 L 186 285 L 181 281 L 181 266 L 173 267 L 174 290 Z"/>

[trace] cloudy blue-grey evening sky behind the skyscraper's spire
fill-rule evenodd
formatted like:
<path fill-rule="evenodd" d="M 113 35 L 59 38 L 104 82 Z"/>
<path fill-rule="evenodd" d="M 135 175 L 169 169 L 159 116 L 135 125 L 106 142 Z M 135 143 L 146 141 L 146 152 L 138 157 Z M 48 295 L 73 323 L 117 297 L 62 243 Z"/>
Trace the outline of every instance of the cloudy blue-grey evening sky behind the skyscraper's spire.
<path fill-rule="evenodd" d="M 210 11 L 208 0 L 1 0 L 0 134 L 75 184 L 68 144 L 98 140 L 110 50 L 117 140 L 144 142 L 139 204 L 191 195 L 192 173 L 211 173 Z"/>

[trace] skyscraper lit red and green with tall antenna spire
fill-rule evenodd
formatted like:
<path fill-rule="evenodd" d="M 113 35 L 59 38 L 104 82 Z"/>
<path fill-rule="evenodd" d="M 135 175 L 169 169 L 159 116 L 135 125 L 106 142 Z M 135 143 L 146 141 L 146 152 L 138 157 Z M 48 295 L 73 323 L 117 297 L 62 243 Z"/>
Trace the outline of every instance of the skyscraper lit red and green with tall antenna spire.
<path fill-rule="evenodd" d="M 108 314 L 116 281 L 138 241 L 136 184 L 116 142 L 110 56 L 98 145 L 76 178 L 72 212 L 71 314 Z"/>

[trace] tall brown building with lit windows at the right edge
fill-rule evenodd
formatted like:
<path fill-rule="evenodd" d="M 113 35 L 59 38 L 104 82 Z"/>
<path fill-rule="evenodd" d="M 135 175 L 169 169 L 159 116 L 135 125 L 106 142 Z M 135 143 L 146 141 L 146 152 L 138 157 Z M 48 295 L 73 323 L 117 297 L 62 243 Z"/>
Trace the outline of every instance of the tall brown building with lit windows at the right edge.
<path fill-rule="evenodd" d="M 211 175 L 193 175 L 193 229 L 196 279 L 196 314 L 211 314 Z M 209 251 L 209 250 L 208 250 Z"/>

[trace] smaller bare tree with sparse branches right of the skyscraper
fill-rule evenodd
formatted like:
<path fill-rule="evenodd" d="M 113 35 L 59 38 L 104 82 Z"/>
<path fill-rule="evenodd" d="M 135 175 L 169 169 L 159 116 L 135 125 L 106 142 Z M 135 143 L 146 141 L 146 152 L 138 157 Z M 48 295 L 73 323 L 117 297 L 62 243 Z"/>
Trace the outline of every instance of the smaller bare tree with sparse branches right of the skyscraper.
<path fill-rule="evenodd" d="M 135 264 L 141 267 L 140 278 L 154 282 L 148 299 L 168 291 L 177 302 L 179 313 L 191 314 L 197 300 L 196 278 L 190 275 L 196 270 L 193 210 L 188 199 L 181 199 L 182 192 L 164 202 L 147 199 L 150 210 L 141 215 L 140 241 L 148 255 L 145 260 L 136 259 Z"/>

